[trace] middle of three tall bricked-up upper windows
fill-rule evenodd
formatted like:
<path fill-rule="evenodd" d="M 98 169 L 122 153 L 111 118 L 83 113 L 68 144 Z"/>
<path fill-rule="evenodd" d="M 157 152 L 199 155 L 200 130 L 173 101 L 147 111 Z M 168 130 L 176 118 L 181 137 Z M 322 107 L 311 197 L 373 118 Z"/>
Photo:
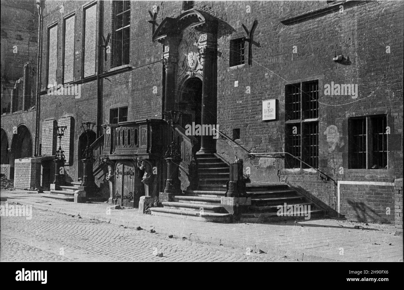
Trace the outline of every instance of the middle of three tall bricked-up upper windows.
<path fill-rule="evenodd" d="M 65 19 L 65 35 L 64 35 L 64 49 L 63 49 L 63 82 L 72 82 L 74 73 L 74 23 L 76 21 L 75 15 L 69 16 Z"/>

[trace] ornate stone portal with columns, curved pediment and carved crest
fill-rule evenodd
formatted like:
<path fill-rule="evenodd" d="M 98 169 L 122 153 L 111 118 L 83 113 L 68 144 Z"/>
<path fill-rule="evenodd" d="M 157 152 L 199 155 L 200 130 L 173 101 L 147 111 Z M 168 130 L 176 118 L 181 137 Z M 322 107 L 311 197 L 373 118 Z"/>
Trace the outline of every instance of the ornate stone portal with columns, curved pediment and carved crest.
<path fill-rule="evenodd" d="M 218 20 L 203 11 L 190 10 L 177 18 L 166 17 L 153 34 L 153 41 L 164 46 L 165 66 L 164 111 L 173 111 L 179 103 L 181 88 L 190 78 L 202 80 L 201 124 L 217 123 L 217 25 Z M 173 132 L 170 132 L 169 140 Z M 198 153 L 215 153 L 213 136 L 201 136 Z M 170 164 L 168 164 L 170 169 Z M 173 171 L 173 170 L 172 170 Z M 175 172 L 167 172 L 168 177 Z M 178 177 L 176 177 L 178 178 Z M 168 182 L 169 180 L 167 180 Z M 171 201 L 177 191 L 167 186 L 160 202 Z"/>

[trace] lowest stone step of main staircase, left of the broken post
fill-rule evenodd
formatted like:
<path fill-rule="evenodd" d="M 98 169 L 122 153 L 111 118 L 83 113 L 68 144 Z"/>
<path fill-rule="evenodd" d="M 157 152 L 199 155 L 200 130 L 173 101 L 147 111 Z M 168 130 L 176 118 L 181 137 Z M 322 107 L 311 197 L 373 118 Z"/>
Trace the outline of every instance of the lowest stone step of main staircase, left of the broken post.
<path fill-rule="evenodd" d="M 157 216 L 170 216 L 181 219 L 191 219 L 196 221 L 208 221 L 226 223 L 231 221 L 231 214 L 206 212 L 200 213 L 197 210 L 179 210 L 174 208 L 150 208 L 151 213 Z"/>

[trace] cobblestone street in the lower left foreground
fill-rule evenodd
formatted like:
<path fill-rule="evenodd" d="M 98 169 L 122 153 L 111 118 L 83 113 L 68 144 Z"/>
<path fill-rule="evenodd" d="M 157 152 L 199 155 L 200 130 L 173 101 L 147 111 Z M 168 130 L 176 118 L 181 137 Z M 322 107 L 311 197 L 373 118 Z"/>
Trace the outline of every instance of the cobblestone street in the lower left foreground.
<path fill-rule="evenodd" d="M 1 218 L 1 261 L 290 260 L 247 252 L 40 209 L 35 209 L 31 220 Z"/>

